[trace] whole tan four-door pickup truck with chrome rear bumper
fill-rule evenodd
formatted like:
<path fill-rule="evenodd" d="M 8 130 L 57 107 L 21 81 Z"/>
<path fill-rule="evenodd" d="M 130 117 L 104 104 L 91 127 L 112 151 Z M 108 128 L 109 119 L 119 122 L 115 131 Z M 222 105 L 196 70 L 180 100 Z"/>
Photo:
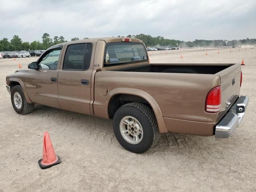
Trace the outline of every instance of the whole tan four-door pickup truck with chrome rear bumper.
<path fill-rule="evenodd" d="M 248 105 L 241 83 L 239 64 L 150 63 L 134 38 L 58 44 L 6 77 L 18 114 L 38 103 L 113 119 L 118 142 L 135 153 L 167 132 L 230 137 Z"/>

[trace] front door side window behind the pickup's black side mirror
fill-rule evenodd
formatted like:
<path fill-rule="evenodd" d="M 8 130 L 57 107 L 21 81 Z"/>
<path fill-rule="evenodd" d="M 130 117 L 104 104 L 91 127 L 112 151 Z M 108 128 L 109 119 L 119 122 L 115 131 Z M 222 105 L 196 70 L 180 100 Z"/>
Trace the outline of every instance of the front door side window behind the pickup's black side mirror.
<path fill-rule="evenodd" d="M 46 54 L 44 54 L 38 62 L 39 68 L 47 70 L 57 70 L 60 51 L 60 48 L 47 51 Z"/>

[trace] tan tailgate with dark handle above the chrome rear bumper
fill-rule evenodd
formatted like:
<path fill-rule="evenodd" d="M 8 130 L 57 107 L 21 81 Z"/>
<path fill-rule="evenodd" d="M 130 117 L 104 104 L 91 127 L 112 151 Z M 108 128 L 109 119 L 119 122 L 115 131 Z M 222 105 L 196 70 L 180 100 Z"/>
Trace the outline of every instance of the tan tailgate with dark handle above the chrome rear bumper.
<path fill-rule="evenodd" d="M 240 92 L 241 66 L 234 64 L 217 73 L 220 76 L 221 107 L 218 121 L 234 104 Z"/>

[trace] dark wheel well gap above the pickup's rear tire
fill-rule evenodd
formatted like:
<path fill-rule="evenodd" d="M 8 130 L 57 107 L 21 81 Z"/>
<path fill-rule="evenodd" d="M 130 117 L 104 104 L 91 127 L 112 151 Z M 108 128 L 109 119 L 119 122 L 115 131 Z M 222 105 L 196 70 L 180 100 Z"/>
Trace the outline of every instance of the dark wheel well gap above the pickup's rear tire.
<path fill-rule="evenodd" d="M 140 96 L 130 94 L 116 94 L 112 96 L 108 103 L 108 117 L 112 119 L 118 108 L 130 102 L 144 103 L 148 105 L 150 108 L 152 108 L 148 101 Z"/>

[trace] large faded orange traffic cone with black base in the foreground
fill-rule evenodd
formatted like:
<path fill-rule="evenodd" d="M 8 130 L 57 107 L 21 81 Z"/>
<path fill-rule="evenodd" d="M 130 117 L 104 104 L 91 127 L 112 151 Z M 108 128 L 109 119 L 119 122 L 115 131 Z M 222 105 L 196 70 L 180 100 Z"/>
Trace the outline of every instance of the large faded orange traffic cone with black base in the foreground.
<path fill-rule="evenodd" d="M 48 131 L 44 132 L 43 158 L 38 161 L 40 168 L 46 169 L 61 163 L 61 159 L 55 154 Z"/>

